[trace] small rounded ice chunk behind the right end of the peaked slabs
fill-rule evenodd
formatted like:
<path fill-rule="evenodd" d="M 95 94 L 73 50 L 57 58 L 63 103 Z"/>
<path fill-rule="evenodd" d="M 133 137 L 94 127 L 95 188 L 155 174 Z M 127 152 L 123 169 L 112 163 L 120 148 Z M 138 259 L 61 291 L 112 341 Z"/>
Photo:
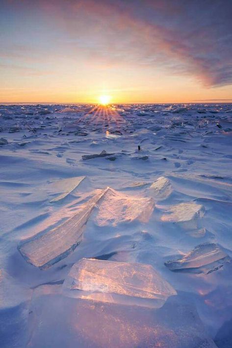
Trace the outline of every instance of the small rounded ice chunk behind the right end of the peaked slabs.
<path fill-rule="evenodd" d="M 166 199 L 172 193 L 173 188 L 170 181 L 161 176 L 158 178 L 150 187 L 149 193 L 155 200 L 163 200 Z"/>

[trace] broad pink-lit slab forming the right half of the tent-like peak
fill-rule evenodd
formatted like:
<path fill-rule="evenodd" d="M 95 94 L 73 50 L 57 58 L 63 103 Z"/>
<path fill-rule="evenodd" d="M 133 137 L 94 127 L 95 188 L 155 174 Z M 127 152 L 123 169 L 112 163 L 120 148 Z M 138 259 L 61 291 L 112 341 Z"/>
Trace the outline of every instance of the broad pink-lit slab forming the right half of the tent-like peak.
<path fill-rule="evenodd" d="M 99 226 L 117 225 L 135 219 L 147 222 L 154 208 L 153 198 L 134 198 L 108 187 L 99 201 L 95 222 Z"/>

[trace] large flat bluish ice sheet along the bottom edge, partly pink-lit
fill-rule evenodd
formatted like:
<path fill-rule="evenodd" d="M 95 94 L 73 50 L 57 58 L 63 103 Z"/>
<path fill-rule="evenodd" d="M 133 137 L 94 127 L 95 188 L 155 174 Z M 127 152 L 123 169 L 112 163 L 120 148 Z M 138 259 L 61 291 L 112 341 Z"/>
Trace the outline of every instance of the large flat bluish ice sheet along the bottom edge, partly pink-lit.
<path fill-rule="evenodd" d="M 45 294 L 32 301 L 29 323 L 33 348 L 216 348 L 194 307 L 169 300 L 149 309 Z"/>

